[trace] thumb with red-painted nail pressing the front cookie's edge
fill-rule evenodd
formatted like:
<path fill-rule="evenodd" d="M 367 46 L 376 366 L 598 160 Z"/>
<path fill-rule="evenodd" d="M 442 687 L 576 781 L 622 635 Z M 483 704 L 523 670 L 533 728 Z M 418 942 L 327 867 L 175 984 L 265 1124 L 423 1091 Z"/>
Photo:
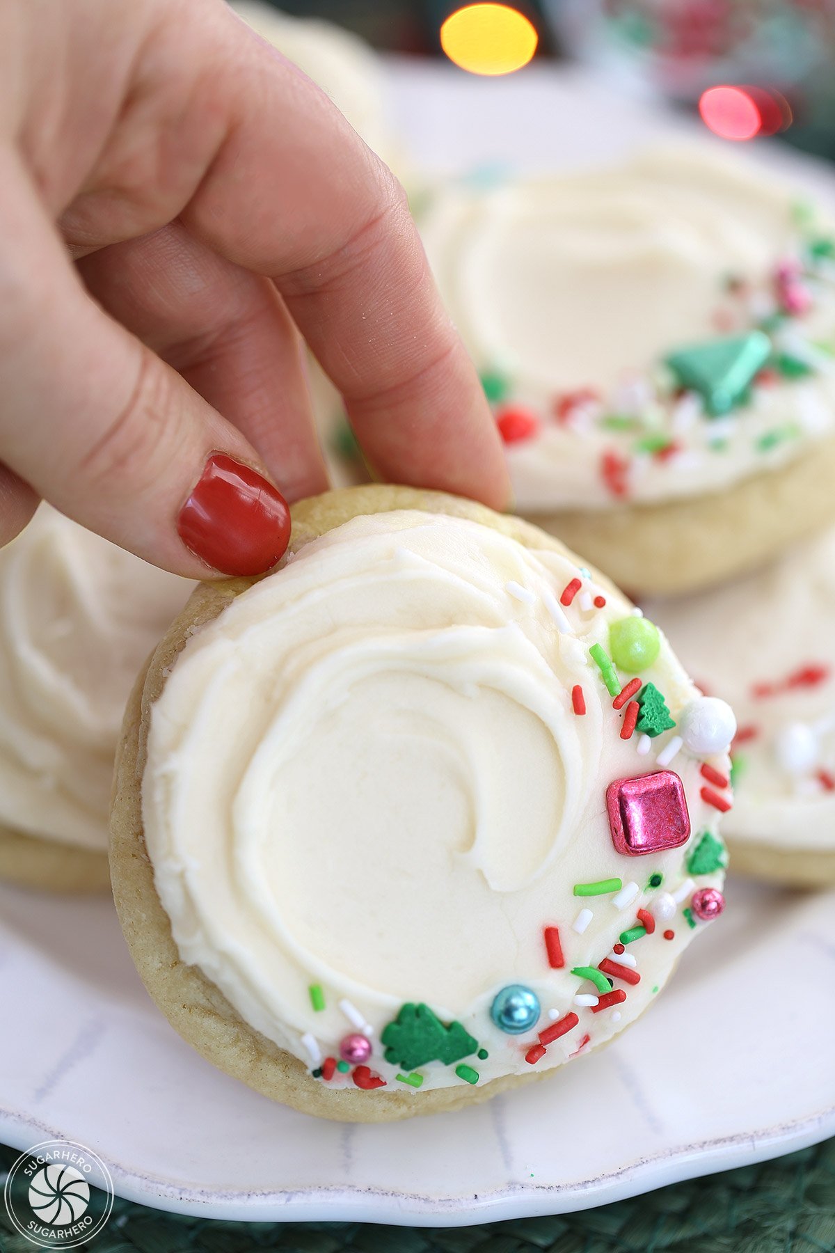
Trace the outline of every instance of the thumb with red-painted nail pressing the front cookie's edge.
<path fill-rule="evenodd" d="M 289 511 L 255 450 L 88 296 L 14 155 L 0 178 L 0 462 L 175 574 L 269 569 Z"/>

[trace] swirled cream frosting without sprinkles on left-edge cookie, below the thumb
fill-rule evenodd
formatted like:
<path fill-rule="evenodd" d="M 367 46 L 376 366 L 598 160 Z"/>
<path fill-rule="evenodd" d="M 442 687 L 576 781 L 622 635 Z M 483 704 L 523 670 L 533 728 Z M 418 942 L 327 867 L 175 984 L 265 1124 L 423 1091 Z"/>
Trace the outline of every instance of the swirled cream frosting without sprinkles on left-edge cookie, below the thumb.
<path fill-rule="evenodd" d="M 190 588 L 49 505 L 0 549 L 0 826 L 106 850 L 125 700 Z"/>

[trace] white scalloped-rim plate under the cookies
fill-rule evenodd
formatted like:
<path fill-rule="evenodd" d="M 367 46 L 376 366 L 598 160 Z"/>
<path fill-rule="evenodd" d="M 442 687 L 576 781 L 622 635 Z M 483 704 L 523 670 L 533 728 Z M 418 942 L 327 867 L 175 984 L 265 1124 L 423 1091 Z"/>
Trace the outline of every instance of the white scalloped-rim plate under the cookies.
<path fill-rule="evenodd" d="M 398 65 L 399 122 L 436 169 L 587 164 L 680 119 L 580 71 L 508 80 Z M 766 159 L 831 197 L 831 175 Z M 130 964 L 113 906 L 0 890 L 0 1140 L 80 1140 L 118 1193 L 208 1218 L 438 1224 L 553 1214 L 835 1134 L 835 893 L 731 881 L 721 923 L 608 1049 L 462 1114 L 317 1121 L 213 1070 Z"/>

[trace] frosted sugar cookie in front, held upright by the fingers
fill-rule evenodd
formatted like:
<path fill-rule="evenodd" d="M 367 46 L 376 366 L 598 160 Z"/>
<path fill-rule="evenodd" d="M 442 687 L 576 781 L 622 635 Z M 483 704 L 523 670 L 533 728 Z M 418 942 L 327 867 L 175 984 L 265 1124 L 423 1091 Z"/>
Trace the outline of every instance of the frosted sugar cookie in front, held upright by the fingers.
<path fill-rule="evenodd" d="M 364 486 L 204 584 L 130 702 L 110 858 L 177 1030 L 325 1118 L 454 1109 L 647 1007 L 724 907 L 730 709 L 556 540 Z"/>

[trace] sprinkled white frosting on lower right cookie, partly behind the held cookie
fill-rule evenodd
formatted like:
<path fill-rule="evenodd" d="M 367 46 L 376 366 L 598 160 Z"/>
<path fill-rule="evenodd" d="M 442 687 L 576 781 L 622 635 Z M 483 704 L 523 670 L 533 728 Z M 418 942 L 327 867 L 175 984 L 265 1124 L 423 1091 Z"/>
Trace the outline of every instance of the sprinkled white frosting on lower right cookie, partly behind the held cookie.
<path fill-rule="evenodd" d="M 835 851 L 835 530 L 647 613 L 696 682 L 736 712 L 729 840 Z"/>

